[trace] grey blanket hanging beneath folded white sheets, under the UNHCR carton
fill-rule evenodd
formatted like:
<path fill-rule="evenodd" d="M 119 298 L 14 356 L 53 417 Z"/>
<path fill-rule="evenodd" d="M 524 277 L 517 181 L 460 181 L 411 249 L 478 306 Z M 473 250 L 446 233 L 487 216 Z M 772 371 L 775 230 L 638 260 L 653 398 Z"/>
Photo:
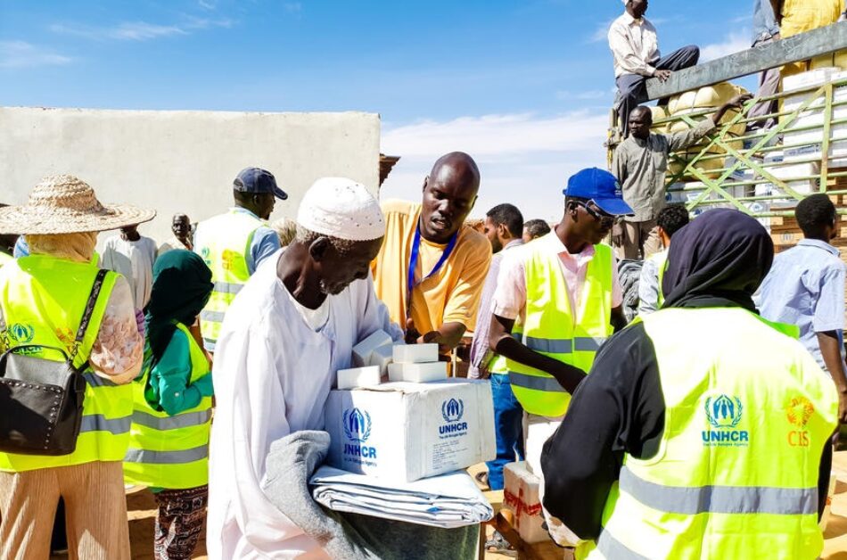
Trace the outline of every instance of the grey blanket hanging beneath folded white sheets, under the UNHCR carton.
<path fill-rule="evenodd" d="M 326 432 L 294 432 L 271 444 L 263 488 L 267 498 L 326 553 L 343 560 L 441 560 L 476 556 L 479 525 L 438 529 L 317 504 L 308 480 L 329 449 Z"/>

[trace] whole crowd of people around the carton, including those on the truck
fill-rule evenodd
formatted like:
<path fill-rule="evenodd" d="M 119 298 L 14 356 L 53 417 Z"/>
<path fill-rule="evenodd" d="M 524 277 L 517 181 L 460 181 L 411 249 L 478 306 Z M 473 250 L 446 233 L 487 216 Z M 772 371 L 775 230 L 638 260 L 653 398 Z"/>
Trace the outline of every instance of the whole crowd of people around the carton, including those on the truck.
<path fill-rule="evenodd" d="M 467 346 L 495 418 L 479 481 L 502 489 L 526 461 L 551 539 L 579 557 L 818 556 L 847 423 L 835 206 L 800 202 L 805 239 L 775 258 L 757 220 L 668 204 L 670 152 L 750 96 L 651 133 L 646 79 L 699 52 L 661 57 L 646 0 L 624 4 L 609 41 L 629 136 L 612 172 L 549 197 L 555 224 L 503 202 L 469 226 L 481 170 L 465 152 L 434 162 L 420 201 L 324 177 L 273 226 L 288 195 L 243 169 L 231 209 L 177 214 L 158 247 L 138 229 L 153 210 L 70 175 L 0 208 L 0 557 L 47 558 L 53 533 L 71 557 L 129 558 L 125 484 L 155 495 L 157 558 L 191 557 L 204 524 L 211 558 L 325 557 L 267 495 L 267 457 L 324 429 L 336 372 L 377 331 L 453 362 Z M 756 40 L 778 40 L 757 4 Z M 633 321 L 623 259 L 644 261 Z M 57 363 L 69 384 L 45 383 Z M 60 415 L 67 399 L 82 404 Z"/>

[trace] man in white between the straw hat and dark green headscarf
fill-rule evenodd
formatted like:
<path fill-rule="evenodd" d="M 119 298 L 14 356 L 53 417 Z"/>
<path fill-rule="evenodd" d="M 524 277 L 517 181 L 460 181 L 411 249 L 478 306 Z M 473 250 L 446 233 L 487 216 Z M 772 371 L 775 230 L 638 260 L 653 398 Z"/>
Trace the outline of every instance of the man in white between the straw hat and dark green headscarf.
<path fill-rule="evenodd" d="M 138 226 L 120 228 L 120 235 L 106 240 L 101 266 L 127 278 L 136 309 L 150 301 L 156 242 L 138 233 Z"/>

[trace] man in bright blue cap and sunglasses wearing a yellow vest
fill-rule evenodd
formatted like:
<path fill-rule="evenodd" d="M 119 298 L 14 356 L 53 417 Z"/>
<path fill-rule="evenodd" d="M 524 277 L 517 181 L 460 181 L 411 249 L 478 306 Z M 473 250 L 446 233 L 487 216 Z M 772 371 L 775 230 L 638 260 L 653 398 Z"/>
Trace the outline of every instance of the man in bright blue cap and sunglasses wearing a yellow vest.
<path fill-rule="evenodd" d="M 632 213 L 621 185 L 608 171 L 583 169 L 564 195 L 554 230 L 504 256 L 489 334 L 489 347 L 502 357 L 489 371 L 509 375 L 526 414 L 527 467 L 539 477 L 541 447 L 561 424 L 572 392 L 606 338 L 626 325 L 617 263 L 612 247 L 601 243 Z M 557 541 L 567 541 L 561 522 L 547 517 L 547 526 Z"/>

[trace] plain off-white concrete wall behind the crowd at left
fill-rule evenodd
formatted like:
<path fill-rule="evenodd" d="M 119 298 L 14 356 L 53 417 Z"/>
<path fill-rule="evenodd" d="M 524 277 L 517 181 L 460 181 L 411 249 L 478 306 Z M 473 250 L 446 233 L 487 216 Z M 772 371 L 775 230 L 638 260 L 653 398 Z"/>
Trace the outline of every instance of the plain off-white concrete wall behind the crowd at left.
<path fill-rule="evenodd" d="M 0 108 L 0 202 L 26 202 L 40 177 L 70 173 L 101 202 L 157 210 L 140 231 L 161 243 L 174 213 L 198 221 L 229 208 L 245 167 L 270 170 L 289 194 L 272 220 L 293 218 L 318 177 L 350 177 L 375 195 L 379 147 L 373 113 Z"/>

